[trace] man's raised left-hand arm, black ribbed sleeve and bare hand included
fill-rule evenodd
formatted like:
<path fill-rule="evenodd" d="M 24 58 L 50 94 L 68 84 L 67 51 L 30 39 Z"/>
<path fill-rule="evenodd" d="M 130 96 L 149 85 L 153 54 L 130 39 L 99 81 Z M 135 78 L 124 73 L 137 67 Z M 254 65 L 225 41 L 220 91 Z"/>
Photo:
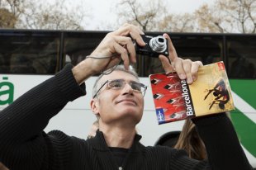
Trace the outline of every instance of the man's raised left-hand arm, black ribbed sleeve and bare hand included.
<path fill-rule="evenodd" d="M 107 34 L 96 50 L 80 64 L 75 67 L 67 65 L 53 78 L 32 88 L 1 111 L 0 161 L 11 169 L 48 169 L 49 161 L 60 160 L 59 152 L 69 155 L 66 149 L 70 146 L 69 136 L 58 132 L 46 135 L 43 131 L 45 126 L 68 102 L 85 95 L 83 82 L 87 78 L 112 68 L 121 59 L 128 69 L 129 62 L 135 62 L 131 38 L 145 45 L 140 34 L 144 33 L 136 26 L 121 26 Z M 64 167 L 69 162 L 62 161 L 52 164 Z"/>

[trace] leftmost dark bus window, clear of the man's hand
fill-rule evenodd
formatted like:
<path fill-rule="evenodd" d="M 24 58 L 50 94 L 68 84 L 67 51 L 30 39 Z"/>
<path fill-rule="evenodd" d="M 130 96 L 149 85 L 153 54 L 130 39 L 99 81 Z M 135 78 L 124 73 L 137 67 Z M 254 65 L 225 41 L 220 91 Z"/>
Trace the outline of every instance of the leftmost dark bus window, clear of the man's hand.
<path fill-rule="evenodd" d="M 59 34 L 48 31 L 3 31 L 0 35 L 1 73 L 56 73 Z"/>

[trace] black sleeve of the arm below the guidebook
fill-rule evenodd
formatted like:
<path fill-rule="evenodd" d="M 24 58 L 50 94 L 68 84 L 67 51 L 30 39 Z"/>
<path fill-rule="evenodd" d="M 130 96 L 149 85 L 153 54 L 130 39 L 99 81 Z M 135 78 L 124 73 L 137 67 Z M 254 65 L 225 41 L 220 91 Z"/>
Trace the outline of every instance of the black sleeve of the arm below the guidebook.
<path fill-rule="evenodd" d="M 212 170 L 251 170 L 230 118 L 224 113 L 193 119 Z"/>

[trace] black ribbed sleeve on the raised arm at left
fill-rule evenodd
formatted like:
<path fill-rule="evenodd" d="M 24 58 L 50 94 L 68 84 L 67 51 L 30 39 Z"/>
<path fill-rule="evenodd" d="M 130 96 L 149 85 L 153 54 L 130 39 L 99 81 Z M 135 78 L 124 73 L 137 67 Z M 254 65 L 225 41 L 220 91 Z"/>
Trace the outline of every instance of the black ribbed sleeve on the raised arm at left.
<path fill-rule="evenodd" d="M 48 166 L 42 164 L 55 154 L 52 141 L 58 143 L 61 139 L 58 135 L 46 135 L 45 126 L 68 102 L 86 93 L 84 84 L 76 83 L 71 68 L 67 65 L 0 112 L 0 162 L 8 168 Z"/>

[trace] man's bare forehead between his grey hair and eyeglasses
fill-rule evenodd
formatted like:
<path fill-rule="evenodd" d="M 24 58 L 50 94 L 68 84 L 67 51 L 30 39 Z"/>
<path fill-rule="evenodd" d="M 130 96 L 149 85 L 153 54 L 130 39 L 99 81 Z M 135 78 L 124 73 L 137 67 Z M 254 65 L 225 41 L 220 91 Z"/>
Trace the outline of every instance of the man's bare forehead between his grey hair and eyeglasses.
<path fill-rule="evenodd" d="M 107 80 L 115 80 L 115 79 L 124 79 L 127 82 L 129 81 L 139 82 L 139 79 L 136 78 L 131 73 L 126 73 L 125 71 L 116 70 L 110 74 L 103 75 L 102 78 L 99 80 L 99 83 L 101 84 L 101 83 L 105 83 Z"/>

